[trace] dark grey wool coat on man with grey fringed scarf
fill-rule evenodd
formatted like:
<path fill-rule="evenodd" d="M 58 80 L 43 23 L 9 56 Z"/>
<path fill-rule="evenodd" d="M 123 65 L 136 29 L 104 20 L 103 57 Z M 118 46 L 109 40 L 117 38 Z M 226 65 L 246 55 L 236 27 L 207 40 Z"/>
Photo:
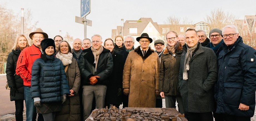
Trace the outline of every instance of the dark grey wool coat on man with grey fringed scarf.
<path fill-rule="evenodd" d="M 211 48 L 202 47 L 198 42 L 197 48 L 189 62 L 188 79 L 183 80 L 186 46 L 181 54 L 179 69 L 179 91 L 186 112 L 205 113 L 213 111 L 213 88 L 217 81 L 217 58 Z"/>

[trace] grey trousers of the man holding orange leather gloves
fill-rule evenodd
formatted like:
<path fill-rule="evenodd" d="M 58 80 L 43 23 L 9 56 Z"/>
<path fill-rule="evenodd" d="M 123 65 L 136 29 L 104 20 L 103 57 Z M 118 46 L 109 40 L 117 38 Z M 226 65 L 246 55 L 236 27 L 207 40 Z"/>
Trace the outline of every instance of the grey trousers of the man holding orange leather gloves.
<path fill-rule="evenodd" d="M 104 108 L 104 101 L 107 91 L 106 85 L 84 85 L 83 87 L 83 120 L 91 114 L 92 101 L 95 96 L 96 108 Z"/>

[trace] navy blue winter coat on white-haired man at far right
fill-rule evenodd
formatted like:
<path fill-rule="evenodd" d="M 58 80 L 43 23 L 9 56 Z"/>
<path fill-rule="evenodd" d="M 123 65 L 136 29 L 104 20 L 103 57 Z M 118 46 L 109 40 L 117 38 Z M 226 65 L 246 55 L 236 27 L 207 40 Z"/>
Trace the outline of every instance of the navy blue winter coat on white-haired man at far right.
<path fill-rule="evenodd" d="M 242 37 L 227 48 L 223 48 L 218 57 L 218 81 L 215 86 L 216 113 L 253 117 L 256 90 L 256 51 L 243 43 Z M 249 107 L 248 111 L 238 109 L 239 104 Z"/>

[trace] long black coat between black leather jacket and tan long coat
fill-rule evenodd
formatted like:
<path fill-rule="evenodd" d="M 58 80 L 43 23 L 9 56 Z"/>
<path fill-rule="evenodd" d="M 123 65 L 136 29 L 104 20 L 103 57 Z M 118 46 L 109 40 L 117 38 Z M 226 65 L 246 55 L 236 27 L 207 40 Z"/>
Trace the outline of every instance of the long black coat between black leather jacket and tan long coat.
<path fill-rule="evenodd" d="M 123 70 L 124 63 L 123 56 L 114 51 L 113 58 L 113 72 L 109 77 L 107 85 L 106 102 L 107 104 L 122 104 L 122 96 L 117 96 L 118 88 L 123 88 Z"/>

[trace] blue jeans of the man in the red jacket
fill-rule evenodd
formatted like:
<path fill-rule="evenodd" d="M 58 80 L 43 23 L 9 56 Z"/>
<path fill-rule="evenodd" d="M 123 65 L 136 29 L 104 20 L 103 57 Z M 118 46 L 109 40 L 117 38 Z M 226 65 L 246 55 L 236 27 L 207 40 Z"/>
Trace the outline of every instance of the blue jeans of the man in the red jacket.
<path fill-rule="evenodd" d="M 34 99 L 31 97 L 31 88 L 24 86 L 24 98 L 26 103 L 26 118 L 27 121 L 36 121 L 36 107 Z"/>

